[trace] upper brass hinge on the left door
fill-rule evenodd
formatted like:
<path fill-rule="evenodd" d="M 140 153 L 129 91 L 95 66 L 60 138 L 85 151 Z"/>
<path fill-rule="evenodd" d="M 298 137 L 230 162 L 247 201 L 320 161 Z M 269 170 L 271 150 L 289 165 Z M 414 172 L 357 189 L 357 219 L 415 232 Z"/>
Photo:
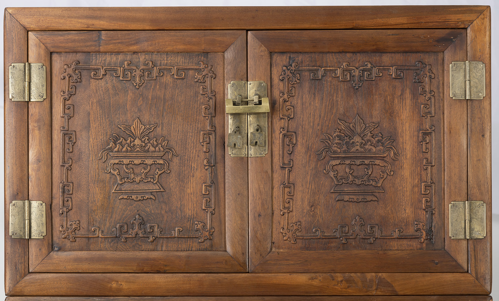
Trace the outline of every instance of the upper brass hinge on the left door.
<path fill-rule="evenodd" d="M 47 68 L 41 63 L 14 63 L 8 67 L 12 101 L 43 101 L 47 98 Z"/>

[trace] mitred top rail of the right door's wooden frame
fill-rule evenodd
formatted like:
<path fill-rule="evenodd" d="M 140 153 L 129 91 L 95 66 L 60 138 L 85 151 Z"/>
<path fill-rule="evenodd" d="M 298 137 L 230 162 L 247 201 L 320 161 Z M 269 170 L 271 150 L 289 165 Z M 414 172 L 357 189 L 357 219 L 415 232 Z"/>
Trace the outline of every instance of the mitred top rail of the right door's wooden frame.
<path fill-rule="evenodd" d="M 270 52 L 400 52 L 408 49 L 413 52 L 439 52 L 465 33 L 466 29 L 251 31 Z M 290 39 L 293 43 L 288 42 Z"/>

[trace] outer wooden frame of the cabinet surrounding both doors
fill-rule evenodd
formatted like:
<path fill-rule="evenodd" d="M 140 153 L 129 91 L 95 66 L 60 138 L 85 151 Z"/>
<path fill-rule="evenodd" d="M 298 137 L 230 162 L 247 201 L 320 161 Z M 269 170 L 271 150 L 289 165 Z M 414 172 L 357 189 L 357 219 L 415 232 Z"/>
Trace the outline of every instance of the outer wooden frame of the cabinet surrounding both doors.
<path fill-rule="evenodd" d="M 99 17 L 96 18 L 96 15 Z M 258 17 L 241 18 L 242 15 Z M 314 21 L 310 21 L 310 15 L 314 16 Z M 483 61 L 491 66 L 489 6 L 6 8 L 4 75 L 8 74 L 11 63 L 31 59 L 31 56 L 28 57 L 30 31 L 361 28 L 466 29 L 467 59 Z M 246 62 L 244 66 L 246 67 Z M 226 81 L 245 80 L 244 77 L 242 74 L 233 75 L 231 79 L 226 78 Z M 251 80 L 251 77 L 252 75 L 248 79 Z M 32 158 L 28 151 L 27 135 L 29 104 L 9 101 L 8 77 L 4 77 L 6 295 L 454 295 L 457 293 L 455 288 L 459 288 L 461 294 L 488 295 L 492 289 L 490 68 L 486 68 L 486 80 L 486 97 L 481 101 L 467 102 L 468 199 L 483 200 L 486 203 L 487 220 L 490 222 L 485 239 L 468 241 L 467 273 L 73 274 L 31 273 L 31 243 L 12 239 L 8 235 L 10 202 L 32 196 L 28 168 L 28 162 Z M 250 163 L 249 170 L 252 168 Z M 250 191 L 250 197 L 251 193 L 253 192 Z M 359 286 L 359 282 L 380 285 Z M 452 286 L 449 286 L 450 282 L 453 282 Z M 169 283 L 176 285 L 165 285 Z"/>

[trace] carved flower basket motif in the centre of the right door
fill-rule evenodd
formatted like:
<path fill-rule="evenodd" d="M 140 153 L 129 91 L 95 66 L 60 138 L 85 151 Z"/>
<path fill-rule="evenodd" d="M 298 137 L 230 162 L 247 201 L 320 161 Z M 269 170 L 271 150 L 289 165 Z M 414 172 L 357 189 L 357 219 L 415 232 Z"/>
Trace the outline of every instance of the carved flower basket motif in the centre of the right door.
<path fill-rule="evenodd" d="M 393 175 L 392 166 L 386 157 L 397 160 L 399 153 L 392 145 L 390 136 L 381 133 L 373 134 L 378 123 L 364 124 L 357 115 L 351 123 L 338 119 L 341 129 L 333 135 L 324 134 L 325 144 L 317 154 L 320 159 L 326 156 L 324 173 L 331 176 L 334 182 L 332 193 L 340 192 L 337 201 L 369 202 L 378 198 L 368 192 L 384 192 L 381 184 L 387 176 Z"/>

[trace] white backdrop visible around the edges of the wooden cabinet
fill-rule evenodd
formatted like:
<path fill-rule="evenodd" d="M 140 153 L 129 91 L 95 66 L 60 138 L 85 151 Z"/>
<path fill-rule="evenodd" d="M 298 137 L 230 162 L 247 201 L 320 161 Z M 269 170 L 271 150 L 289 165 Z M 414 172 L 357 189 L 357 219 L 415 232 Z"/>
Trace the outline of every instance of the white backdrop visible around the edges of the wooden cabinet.
<path fill-rule="evenodd" d="M 492 197 L 493 202 L 496 203 L 496 198 L 498 197 L 499 187 L 497 178 L 499 176 L 499 85 L 498 85 L 498 70 L 499 70 L 499 60 L 497 45 L 499 40 L 499 34 L 496 30 L 497 21 L 499 18 L 499 1 L 494 0 L 184 0 L 184 1 L 172 1 L 172 0 L 16 0 L 7 1 L 0 0 L 1 7 L 15 6 L 34 6 L 34 7 L 57 7 L 57 6 L 295 6 L 295 5 L 490 5 L 492 8 Z M 70 17 L 70 16 L 68 16 Z M 264 21 L 264 20 L 262 20 Z M 1 22 L 3 27 L 3 22 Z M 2 30 L 3 32 L 3 30 Z M 1 43 L 1 52 L 3 53 L 3 43 Z M 496 54 L 496 55 L 494 55 Z M 0 60 L 0 66 L 3 70 L 3 60 Z M 487 66 L 489 68 L 489 66 Z M 494 84 L 495 83 L 495 84 Z M 3 85 L 0 85 L 1 94 L 3 95 Z M 3 103 L 1 103 L 1 111 L 3 112 Z M 0 124 L 3 124 L 3 114 L 0 116 Z M 3 158 L 3 131 L 0 131 L 0 157 Z M 3 164 L 3 160 L 0 160 Z M 1 172 L 3 172 L 1 168 Z M 3 181 L 0 181 L 1 190 L 3 190 Z M 493 206 L 492 209 L 494 213 L 494 263 L 499 261 L 499 206 Z M 3 219 L 3 214 L 0 214 L 0 219 Z M 0 220 L 0 229 L 3 227 L 3 220 Z M 1 229 L 3 233 L 3 229 Z M 0 240 L 1 249 L 3 249 L 3 239 Z M 0 265 L 2 265 L 1 270 L 3 270 L 3 252 L 0 252 Z M 495 290 L 493 290 L 492 296 L 499 299 L 499 264 L 494 264 L 495 268 Z M 3 277 L 1 277 L 2 287 L 3 287 Z M 1 295 L 1 294 L 0 294 Z"/>

